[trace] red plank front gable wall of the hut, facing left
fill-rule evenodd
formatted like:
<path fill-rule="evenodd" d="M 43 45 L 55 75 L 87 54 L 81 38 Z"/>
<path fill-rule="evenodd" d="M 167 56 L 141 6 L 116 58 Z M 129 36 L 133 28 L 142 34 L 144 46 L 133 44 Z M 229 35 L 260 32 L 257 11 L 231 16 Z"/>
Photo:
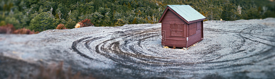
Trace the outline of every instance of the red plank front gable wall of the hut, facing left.
<path fill-rule="evenodd" d="M 183 25 L 183 30 L 171 29 L 171 24 Z M 183 36 L 176 37 L 171 36 L 170 29 L 173 31 L 183 31 Z M 178 29 L 182 29 L 179 28 Z M 179 16 L 174 14 L 171 10 L 167 10 L 166 14 L 161 20 L 161 44 L 168 47 L 186 47 L 186 37 L 187 37 L 187 23 L 184 22 Z"/>

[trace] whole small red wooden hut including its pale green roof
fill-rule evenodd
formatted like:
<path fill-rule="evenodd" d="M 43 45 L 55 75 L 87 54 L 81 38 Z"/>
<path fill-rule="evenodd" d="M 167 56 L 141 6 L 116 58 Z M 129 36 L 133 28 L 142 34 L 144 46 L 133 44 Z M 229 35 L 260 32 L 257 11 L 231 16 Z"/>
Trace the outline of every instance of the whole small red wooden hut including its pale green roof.
<path fill-rule="evenodd" d="M 168 47 L 190 47 L 204 39 L 206 17 L 189 5 L 167 5 L 161 22 L 161 44 Z"/>

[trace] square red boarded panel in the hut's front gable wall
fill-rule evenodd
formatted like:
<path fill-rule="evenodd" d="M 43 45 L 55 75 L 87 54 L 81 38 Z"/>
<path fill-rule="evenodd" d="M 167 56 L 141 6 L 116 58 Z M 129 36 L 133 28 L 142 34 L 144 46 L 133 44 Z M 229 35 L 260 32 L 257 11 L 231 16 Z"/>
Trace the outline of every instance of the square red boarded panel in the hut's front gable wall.
<path fill-rule="evenodd" d="M 183 24 L 170 23 L 170 36 L 183 37 Z"/>

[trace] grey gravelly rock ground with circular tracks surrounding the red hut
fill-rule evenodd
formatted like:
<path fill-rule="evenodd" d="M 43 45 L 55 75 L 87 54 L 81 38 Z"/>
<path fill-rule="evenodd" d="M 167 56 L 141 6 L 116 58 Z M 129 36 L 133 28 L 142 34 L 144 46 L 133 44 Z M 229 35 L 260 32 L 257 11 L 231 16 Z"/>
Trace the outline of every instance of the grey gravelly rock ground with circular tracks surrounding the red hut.
<path fill-rule="evenodd" d="M 275 78 L 275 18 L 206 21 L 187 50 L 161 46 L 161 24 L 0 34 L 0 78 L 64 62 L 96 78 Z"/>

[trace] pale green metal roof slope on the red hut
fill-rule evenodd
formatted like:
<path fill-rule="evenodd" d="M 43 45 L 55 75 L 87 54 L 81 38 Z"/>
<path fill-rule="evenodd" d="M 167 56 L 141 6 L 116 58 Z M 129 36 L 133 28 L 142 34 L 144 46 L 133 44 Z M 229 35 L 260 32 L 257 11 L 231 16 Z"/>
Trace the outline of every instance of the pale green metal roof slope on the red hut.
<path fill-rule="evenodd" d="M 206 18 L 205 16 L 200 14 L 198 11 L 196 11 L 194 8 L 192 8 L 190 5 L 167 5 L 167 6 L 173 9 L 176 13 L 178 13 L 188 22 Z"/>

